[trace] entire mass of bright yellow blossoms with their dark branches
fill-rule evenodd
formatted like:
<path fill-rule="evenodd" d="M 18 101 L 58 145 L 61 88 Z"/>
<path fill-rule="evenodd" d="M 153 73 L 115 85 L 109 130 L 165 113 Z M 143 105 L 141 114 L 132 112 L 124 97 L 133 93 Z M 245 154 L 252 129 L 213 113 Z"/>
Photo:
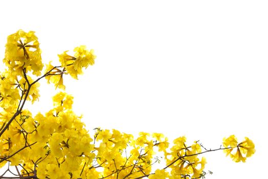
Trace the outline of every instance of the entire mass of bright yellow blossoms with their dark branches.
<path fill-rule="evenodd" d="M 0 74 L 0 168 L 6 163 L 19 167 L 17 178 L 201 178 L 206 174 L 201 153 L 224 150 L 235 162 L 245 162 L 255 152 L 251 140 L 238 143 L 234 136 L 224 139 L 224 148 L 214 150 L 197 141 L 187 145 L 185 137 L 169 146 L 161 133 L 140 132 L 134 138 L 95 128 L 90 136 L 72 111 L 73 97 L 62 91 L 53 97 L 53 109 L 33 116 L 23 107 L 27 100 L 38 100 L 39 80 L 46 78 L 64 89 L 63 75 L 77 79 L 83 68 L 94 64 L 92 50 L 80 46 L 74 52 L 70 56 L 65 51 L 59 55 L 61 65 L 47 64 L 42 72 L 34 32 L 19 30 L 8 37 L 7 70 Z M 159 159 L 164 167 L 154 169 Z"/>

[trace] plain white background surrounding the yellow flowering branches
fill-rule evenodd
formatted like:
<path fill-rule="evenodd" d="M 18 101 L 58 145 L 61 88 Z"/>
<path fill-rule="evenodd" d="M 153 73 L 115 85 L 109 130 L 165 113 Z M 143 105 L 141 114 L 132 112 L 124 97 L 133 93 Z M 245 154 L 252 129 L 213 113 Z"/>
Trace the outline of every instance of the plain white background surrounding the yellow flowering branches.
<path fill-rule="evenodd" d="M 0 56 L 6 37 L 36 31 L 44 61 L 80 44 L 94 49 L 94 66 L 79 81 L 65 79 L 90 132 L 185 135 L 218 148 L 223 137 L 249 137 L 256 153 L 234 163 L 206 154 L 207 178 L 266 178 L 268 26 L 266 1 L 4 1 Z M 40 102 L 52 107 L 53 86 Z"/>

